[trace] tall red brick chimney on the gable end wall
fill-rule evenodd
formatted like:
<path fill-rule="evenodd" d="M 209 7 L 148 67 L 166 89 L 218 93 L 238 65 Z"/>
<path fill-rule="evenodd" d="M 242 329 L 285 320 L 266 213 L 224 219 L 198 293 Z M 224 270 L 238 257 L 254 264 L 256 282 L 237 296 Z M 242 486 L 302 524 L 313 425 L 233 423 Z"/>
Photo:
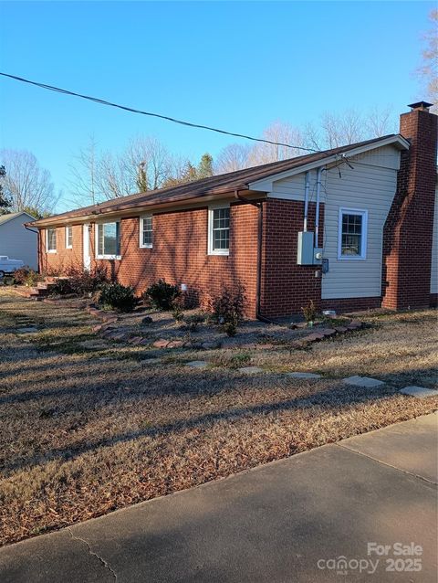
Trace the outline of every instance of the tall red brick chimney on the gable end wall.
<path fill-rule="evenodd" d="M 430 305 L 437 116 L 432 103 L 412 103 L 400 116 L 411 143 L 401 153 L 397 192 L 383 230 L 382 302 L 386 308 Z"/>

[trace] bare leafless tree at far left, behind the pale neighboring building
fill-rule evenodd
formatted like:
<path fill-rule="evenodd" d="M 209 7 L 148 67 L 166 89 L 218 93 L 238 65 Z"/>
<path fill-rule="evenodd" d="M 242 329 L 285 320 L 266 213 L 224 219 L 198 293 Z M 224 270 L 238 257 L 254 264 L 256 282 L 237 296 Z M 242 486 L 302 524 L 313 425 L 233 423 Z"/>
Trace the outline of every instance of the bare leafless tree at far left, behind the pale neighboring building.
<path fill-rule="evenodd" d="M 48 170 L 41 168 L 34 154 L 26 150 L 0 150 L 5 175 L 1 176 L 5 196 L 13 211 L 34 208 L 39 213 L 52 211 L 59 195 Z"/>

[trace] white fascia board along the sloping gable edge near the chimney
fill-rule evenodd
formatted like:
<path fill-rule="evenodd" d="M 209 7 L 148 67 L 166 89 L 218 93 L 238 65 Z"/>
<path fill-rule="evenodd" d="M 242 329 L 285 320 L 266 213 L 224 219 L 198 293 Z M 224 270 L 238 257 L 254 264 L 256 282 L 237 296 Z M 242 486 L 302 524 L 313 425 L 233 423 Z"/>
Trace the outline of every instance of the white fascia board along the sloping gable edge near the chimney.
<path fill-rule="evenodd" d="M 333 162 L 337 162 L 339 157 L 344 155 L 346 157 L 356 156 L 358 154 L 363 154 L 364 152 L 369 152 L 370 150 L 375 150 L 377 148 L 381 148 L 386 145 L 394 145 L 399 150 L 409 150 L 409 142 L 405 140 L 400 134 L 392 135 L 386 140 L 381 140 L 381 142 L 375 143 L 368 143 L 366 145 L 362 145 L 358 148 L 353 148 L 348 152 L 344 152 L 343 154 L 332 154 L 327 156 L 326 158 L 321 158 L 316 162 L 309 162 L 308 164 L 302 164 L 297 166 L 296 168 L 291 168 L 290 170 L 285 170 L 284 172 L 279 172 L 276 175 L 269 176 L 268 178 L 264 178 L 262 180 L 256 180 L 255 182 L 251 182 L 248 184 L 250 190 L 261 190 L 263 192 L 272 192 L 273 190 L 273 183 L 276 180 L 281 180 L 282 178 L 288 178 L 289 176 L 299 175 L 303 172 L 308 172 L 308 170 L 314 170 L 319 166 L 325 166 L 327 164 L 331 164 Z"/>

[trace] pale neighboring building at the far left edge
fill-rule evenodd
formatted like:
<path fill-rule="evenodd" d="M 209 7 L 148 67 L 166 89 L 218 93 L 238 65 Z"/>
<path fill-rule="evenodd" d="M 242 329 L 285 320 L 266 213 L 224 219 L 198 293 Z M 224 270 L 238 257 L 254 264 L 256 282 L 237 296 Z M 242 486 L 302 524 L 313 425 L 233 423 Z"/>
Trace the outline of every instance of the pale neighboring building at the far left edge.
<path fill-rule="evenodd" d="M 5 255 L 11 260 L 22 260 L 25 265 L 36 270 L 37 233 L 35 229 L 28 230 L 24 226 L 33 220 L 35 217 L 24 211 L 0 215 L 0 255 Z"/>

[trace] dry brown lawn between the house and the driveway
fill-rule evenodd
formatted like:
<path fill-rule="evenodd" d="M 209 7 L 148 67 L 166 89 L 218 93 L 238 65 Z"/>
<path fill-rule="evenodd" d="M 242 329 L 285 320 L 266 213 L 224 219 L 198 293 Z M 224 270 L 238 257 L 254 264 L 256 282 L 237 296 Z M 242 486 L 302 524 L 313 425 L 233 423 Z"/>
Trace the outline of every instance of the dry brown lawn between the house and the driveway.
<path fill-rule="evenodd" d="M 35 334 L 17 334 L 22 316 Z M 0 543 L 438 408 L 397 392 L 436 382 L 436 313 L 368 321 L 309 350 L 162 351 L 148 366 L 159 351 L 100 340 L 86 313 L 0 290 Z M 194 359 L 212 365 L 184 366 Z M 265 372 L 235 370 L 249 363 Z M 351 375 L 386 385 L 342 385 Z"/>

